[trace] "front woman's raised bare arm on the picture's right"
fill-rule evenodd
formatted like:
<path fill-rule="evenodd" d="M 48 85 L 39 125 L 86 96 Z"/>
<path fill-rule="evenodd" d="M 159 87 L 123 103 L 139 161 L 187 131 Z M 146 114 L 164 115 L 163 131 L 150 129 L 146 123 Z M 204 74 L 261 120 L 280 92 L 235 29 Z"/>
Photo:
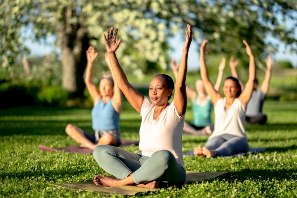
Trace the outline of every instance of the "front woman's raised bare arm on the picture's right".
<path fill-rule="evenodd" d="M 187 91 L 186 91 L 186 75 L 188 70 L 188 52 L 192 42 L 192 28 L 188 24 L 188 32 L 186 32 L 186 42 L 183 46 L 183 56 L 178 70 L 176 82 L 175 82 L 175 93 L 174 93 L 174 106 L 177 113 L 180 116 L 184 116 L 187 109 Z"/>

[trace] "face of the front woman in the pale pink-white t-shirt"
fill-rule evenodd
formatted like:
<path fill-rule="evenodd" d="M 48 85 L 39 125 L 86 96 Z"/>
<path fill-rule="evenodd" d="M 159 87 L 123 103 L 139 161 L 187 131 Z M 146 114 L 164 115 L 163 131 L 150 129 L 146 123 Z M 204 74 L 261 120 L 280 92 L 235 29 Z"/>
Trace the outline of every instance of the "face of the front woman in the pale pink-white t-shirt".
<path fill-rule="evenodd" d="M 154 77 L 149 84 L 148 96 L 150 101 L 157 106 L 165 105 L 172 89 L 168 90 L 165 80 L 161 76 Z"/>

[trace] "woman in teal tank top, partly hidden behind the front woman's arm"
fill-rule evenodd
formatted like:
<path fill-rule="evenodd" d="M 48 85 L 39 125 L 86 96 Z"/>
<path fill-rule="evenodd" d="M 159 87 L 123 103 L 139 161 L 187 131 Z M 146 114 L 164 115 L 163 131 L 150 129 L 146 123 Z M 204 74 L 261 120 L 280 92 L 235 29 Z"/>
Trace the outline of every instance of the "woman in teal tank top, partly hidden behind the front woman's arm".
<path fill-rule="evenodd" d="M 225 68 L 225 58 L 222 59 L 219 65 L 219 74 L 217 82 L 215 84 L 215 89 L 218 91 L 223 77 L 223 70 Z M 171 60 L 171 68 L 173 70 L 174 76 L 176 78 L 179 64 L 175 63 L 175 60 Z M 209 96 L 207 96 L 203 82 L 201 79 L 196 81 L 196 91 L 192 90 L 190 87 L 187 88 L 187 97 L 192 101 L 193 109 L 193 124 L 190 124 L 185 121 L 184 124 L 184 133 L 193 134 L 193 135 L 208 135 L 211 134 L 214 128 L 214 125 L 211 123 L 211 109 L 212 102 L 210 101 Z"/>

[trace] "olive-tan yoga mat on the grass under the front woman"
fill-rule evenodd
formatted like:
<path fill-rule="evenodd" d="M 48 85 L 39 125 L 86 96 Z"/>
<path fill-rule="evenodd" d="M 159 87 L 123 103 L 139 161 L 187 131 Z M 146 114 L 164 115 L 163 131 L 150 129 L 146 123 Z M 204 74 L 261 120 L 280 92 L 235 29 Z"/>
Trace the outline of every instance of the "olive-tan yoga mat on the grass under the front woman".
<path fill-rule="evenodd" d="M 229 172 L 192 172 L 187 171 L 187 179 L 185 183 L 189 182 L 197 182 L 197 181 L 204 181 L 209 180 L 212 178 L 216 178 L 220 175 L 223 175 Z M 144 193 L 144 192 L 155 192 L 158 189 L 148 189 L 142 188 L 137 186 L 114 186 L 114 187 L 107 187 L 107 186 L 99 186 L 95 185 L 94 182 L 75 182 L 69 184 L 49 184 L 53 186 L 62 187 L 65 189 L 71 190 L 81 190 L 81 191 L 91 191 L 95 193 L 101 193 L 104 195 L 111 195 L 111 194 L 119 194 L 119 195 L 128 195 L 134 196 L 137 193 Z M 168 188 L 171 189 L 171 188 Z"/>

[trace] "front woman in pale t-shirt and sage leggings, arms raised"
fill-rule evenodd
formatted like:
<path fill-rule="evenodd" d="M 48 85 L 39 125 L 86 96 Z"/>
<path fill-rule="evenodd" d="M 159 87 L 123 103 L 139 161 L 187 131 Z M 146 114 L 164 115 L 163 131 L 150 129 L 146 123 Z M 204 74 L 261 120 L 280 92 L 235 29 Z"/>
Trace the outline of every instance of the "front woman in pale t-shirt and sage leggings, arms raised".
<path fill-rule="evenodd" d="M 188 51 L 192 41 L 192 29 L 188 25 L 183 56 L 176 79 L 174 100 L 168 100 L 174 88 L 171 77 L 165 74 L 156 75 L 149 84 L 149 98 L 140 94 L 128 82 L 115 51 L 121 39 L 116 43 L 117 29 L 113 28 L 105 46 L 112 66 L 115 80 L 131 105 L 142 116 L 140 127 L 139 149 L 136 154 L 113 146 L 99 145 L 94 149 L 94 158 L 103 170 L 118 179 L 105 175 L 94 178 L 96 185 L 124 186 L 137 185 L 147 188 L 158 188 L 158 182 L 172 185 L 183 185 L 186 170 L 183 163 L 182 132 L 184 115 L 187 108 L 186 74 Z"/>

